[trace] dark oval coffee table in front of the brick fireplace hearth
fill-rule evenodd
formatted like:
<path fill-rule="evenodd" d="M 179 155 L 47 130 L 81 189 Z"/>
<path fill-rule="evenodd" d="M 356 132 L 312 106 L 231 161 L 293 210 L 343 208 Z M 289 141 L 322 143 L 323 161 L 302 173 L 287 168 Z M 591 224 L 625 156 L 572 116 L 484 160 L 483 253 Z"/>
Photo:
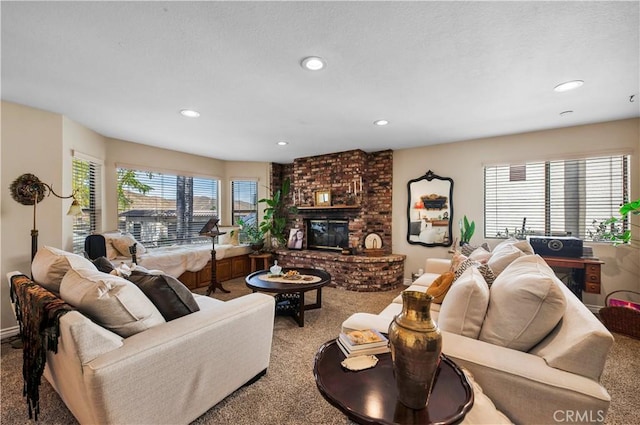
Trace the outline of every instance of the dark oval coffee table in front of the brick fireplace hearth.
<path fill-rule="evenodd" d="M 253 292 L 272 292 L 276 294 L 276 313 L 285 313 L 293 316 L 298 322 L 298 326 L 304 326 L 304 312 L 322 307 L 322 287 L 331 282 L 331 275 L 324 270 L 307 268 L 283 268 L 282 273 L 289 270 L 296 270 L 301 275 L 315 276 L 319 278 L 313 283 L 303 281 L 291 281 L 291 283 L 271 282 L 266 279 L 268 270 L 259 270 L 251 273 L 245 279 L 247 287 Z M 304 303 L 304 293 L 316 291 L 316 302 L 313 304 Z"/>

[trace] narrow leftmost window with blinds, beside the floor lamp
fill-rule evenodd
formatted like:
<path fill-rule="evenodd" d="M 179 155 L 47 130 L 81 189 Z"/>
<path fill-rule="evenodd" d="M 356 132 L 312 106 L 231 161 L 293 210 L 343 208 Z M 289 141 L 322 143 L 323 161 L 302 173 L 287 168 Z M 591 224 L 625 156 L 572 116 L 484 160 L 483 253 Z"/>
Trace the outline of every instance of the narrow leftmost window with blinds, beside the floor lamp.
<path fill-rule="evenodd" d="M 102 164 L 95 159 L 75 153 L 73 157 L 72 188 L 82 207 L 82 215 L 74 217 L 73 252 L 84 251 L 84 240 L 99 232 L 102 221 Z"/>

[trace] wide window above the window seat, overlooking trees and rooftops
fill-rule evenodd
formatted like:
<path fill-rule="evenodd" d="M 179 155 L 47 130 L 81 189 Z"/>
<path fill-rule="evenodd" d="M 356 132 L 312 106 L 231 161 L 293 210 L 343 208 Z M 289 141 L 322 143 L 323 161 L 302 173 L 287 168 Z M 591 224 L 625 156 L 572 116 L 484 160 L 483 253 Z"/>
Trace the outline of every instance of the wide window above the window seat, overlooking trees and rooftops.
<path fill-rule="evenodd" d="M 199 236 L 218 217 L 219 182 L 118 168 L 118 228 L 145 247 L 211 243 Z"/>

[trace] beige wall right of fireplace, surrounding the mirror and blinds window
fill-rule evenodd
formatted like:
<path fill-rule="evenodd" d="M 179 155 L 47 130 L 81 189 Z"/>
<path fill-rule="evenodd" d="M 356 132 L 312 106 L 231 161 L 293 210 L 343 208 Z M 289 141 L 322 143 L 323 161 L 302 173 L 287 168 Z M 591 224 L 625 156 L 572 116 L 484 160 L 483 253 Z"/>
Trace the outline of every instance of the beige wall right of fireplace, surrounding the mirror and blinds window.
<path fill-rule="evenodd" d="M 595 125 L 568 127 L 487 139 L 425 146 L 394 151 L 393 154 L 393 252 L 407 255 L 405 275 L 424 266 L 426 257 L 447 258 L 448 248 L 411 245 L 407 234 L 407 182 L 428 170 L 454 181 L 453 236 L 459 235 L 458 220 L 467 215 L 476 222 L 472 242 L 483 240 L 483 166 L 485 164 L 546 160 L 598 153 L 632 155 L 631 198 L 640 197 L 640 120 L 630 119 Z M 489 241 L 495 245 L 498 241 Z M 602 305 L 604 296 L 617 289 L 640 289 L 640 251 L 589 244 L 606 262 L 602 294 L 585 294 L 585 304 Z"/>

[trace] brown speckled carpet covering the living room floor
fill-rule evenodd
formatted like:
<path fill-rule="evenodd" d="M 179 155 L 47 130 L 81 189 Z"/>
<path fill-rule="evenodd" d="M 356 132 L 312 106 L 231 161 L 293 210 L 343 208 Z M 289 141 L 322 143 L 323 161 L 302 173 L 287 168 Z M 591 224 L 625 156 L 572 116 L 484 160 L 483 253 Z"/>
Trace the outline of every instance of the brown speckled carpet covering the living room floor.
<path fill-rule="evenodd" d="M 215 298 L 228 300 L 250 291 L 243 279 L 225 282 L 230 294 L 216 292 Z M 335 288 L 323 289 L 322 309 L 305 313 L 304 328 L 290 317 L 276 317 L 271 364 L 265 376 L 241 388 L 211 408 L 193 424 L 351 424 L 318 392 L 313 378 L 313 358 L 317 348 L 335 338 L 344 319 L 355 312 L 377 313 L 404 288 L 390 292 L 362 293 Z M 204 291 L 199 291 L 204 292 Z M 313 301 L 307 298 L 307 302 Z M 616 335 L 616 343 L 602 377 L 612 396 L 607 424 L 637 423 L 640 410 L 640 340 Z M 2 424 L 27 424 L 22 398 L 22 351 L 2 343 Z M 43 379 L 40 390 L 39 423 L 73 424 L 74 417 Z M 177 406 L 179 408 L 179 406 Z"/>

